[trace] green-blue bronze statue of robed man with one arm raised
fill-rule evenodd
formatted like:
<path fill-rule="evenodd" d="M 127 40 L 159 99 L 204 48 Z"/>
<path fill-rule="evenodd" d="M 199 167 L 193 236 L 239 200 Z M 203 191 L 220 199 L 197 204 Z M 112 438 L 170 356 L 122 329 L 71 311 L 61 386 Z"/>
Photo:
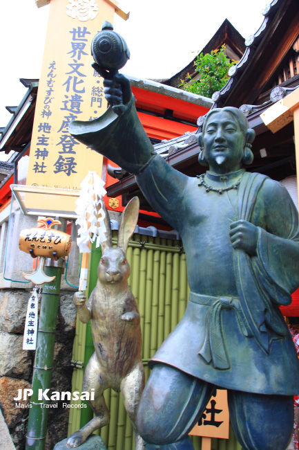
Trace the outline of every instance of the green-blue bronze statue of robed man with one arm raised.
<path fill-rule="evenodd" d="M 146 450 L 193 449 L 187 434 L 215 387 L 228 390 L 243 450 L 284 450 L 299 366 L 278 307 L 299 286 L 298 212 L 280 183 L 242 168 L 253 159 L 254 131 L 238 109 L 206 115 L 199 143 L 209 170 L 191 178 L 155 154 L 128 80 L 104 85 L 112 107 L 70 132 L 136 175 L 182 237 L 191 289 L 182 321 L 150 363 L 137 415 Z"/>

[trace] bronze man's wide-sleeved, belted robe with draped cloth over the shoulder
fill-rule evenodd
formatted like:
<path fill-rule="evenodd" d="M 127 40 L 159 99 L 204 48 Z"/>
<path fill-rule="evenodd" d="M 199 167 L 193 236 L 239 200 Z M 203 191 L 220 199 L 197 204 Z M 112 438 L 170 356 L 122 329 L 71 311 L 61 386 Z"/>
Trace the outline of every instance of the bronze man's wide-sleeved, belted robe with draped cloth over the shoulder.
<path fill-rule="evenodd" d="M 222 388 L 298 394 L 298 357 L 278 308 L 299 286 L 298 212 L 287 190 L 245 172 L 238 191 L 206 192 L 153 154 L 133 102 L 122 116 L 108 109 L 70 132 L 135 173 L 151 206 L 182 237 L 191 298 L 151 365 Z M 256 255 L 231 246 L 229 225 L 238 219 L 258 226 Z"/>

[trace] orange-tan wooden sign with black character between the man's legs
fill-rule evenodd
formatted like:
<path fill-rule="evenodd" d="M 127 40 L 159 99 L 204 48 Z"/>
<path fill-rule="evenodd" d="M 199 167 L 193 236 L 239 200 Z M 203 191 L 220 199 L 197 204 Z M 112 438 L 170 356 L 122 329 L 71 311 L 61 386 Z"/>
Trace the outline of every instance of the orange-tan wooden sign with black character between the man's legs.
<path fill-rule="evenodd" d="M 229 406 L 226 390 L 218 389 L 215 397 L 211 397 L 198 424 L 189 434 L 206 438 L 229 439 Z"/>

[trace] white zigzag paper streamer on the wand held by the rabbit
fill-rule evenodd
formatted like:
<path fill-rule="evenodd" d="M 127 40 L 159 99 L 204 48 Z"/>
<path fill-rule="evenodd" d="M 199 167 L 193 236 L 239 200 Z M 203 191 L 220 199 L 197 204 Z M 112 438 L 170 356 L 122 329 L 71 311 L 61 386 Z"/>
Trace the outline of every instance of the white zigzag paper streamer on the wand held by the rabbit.
<path fill-rule="evenodd" d="M 95 242 L 99 247 L 106 241 L 106 225 L 104 223 L 105 212 L 103 209 L 103 197 L 106 195 L 104 181 L 96 172 L 88 172 L 81 182 L 81 192 L 76 200 L 75 213 L 79 225 L 77 245 L 80 253 L 90 253 L 89 242 Z"/>

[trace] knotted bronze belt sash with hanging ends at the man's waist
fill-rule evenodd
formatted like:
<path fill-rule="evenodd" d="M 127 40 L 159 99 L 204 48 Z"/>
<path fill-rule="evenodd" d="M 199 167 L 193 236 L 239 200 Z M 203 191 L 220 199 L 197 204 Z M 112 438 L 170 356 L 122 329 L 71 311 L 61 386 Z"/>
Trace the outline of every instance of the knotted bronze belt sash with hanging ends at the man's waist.
<path fill-rule="evenodd" d="M 204 296 L 191 292 L 189 300 L 193 303 L 210 307 L 206 314 L 204 343 L 198 354 L 204 358 L 206 363 L 209 364 L 213 362 L 213 366 L 217 369 L 229 369 L 229 359 L 222 331 L 222 309 L 233 309 L 237 313 L 238 323 L 242 330 L 242 334 L 246 337 L 252 336 L 247 319 L 242 311 L 239 298 Z"/>

